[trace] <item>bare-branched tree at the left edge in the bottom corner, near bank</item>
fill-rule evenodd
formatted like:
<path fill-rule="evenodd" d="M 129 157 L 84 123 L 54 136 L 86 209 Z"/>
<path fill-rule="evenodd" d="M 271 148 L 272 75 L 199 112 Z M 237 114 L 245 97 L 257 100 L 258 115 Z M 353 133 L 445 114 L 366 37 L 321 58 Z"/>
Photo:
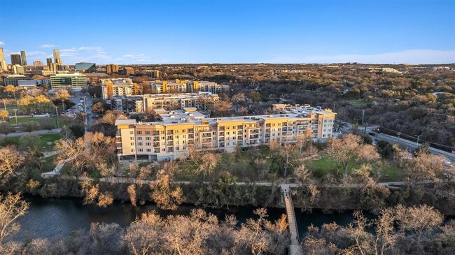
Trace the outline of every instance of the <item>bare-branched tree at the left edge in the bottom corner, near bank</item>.
<path fill-rule="evenodd" d="M 0 253 L 8 254 L 7 240 L 20 231 L 16 221 L 27 213 L 29 203 L 22 201 L 20 194 L 0 194 Z"/>

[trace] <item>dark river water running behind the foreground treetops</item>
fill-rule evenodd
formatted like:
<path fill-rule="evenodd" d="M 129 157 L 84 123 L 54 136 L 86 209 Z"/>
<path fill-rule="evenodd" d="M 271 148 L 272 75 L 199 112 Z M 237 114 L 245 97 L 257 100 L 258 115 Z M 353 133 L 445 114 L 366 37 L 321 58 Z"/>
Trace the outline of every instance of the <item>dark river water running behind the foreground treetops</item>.
<path fill-rule="evenodd" d="M 100 208 L 96 205 L 83 205 L 80 199 L 73 198 L 40 198 L 38 196 L 26 196 L 25 200 L 30 203 L 27 214 L 19 218 L 21 224 L 20 238 L 66 238 L 72 231 L 90 229 L 92 222 L 116 222 L 120 226 L 128 226 L 143 212 L 155 210 L 162 217 L 169 214 L 189 215 L 194 205 L 181 205 L 176 212 L 158 210 L 153 203 L 133 207 L 129 203 L 115 202 L 113 205 Z M 208 212 L 218 216 L 218 219 L 224 219 L 226 214 L 235 214 L 239 224 L 246 219 L 255 217 L 253 210 L 255 207 L 234 207 L 230 210 L 206 209 Z M 268 208 L 268 219 L 274 221 L 286 214 L 285 209 Z M 302 213 L 296 210 L 295 216 L 299 232 L 304 233 L 311 224 L 321 226 L 325 223 L 336 222 L 337 224 L 346 225 L 353 219 L 351 212 L 323 214 L 319 210 L 312 213 Z"/>

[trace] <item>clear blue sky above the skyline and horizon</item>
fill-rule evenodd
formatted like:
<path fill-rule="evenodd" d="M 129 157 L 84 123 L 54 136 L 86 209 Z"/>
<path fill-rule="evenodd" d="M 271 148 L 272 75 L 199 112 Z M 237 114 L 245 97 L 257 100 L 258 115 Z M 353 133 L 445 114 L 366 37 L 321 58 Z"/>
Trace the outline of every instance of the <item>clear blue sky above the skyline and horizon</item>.
<path fill-rule="evenodd" d="M 64 64 L 455 63 L 455 0 L 0 0 L 0 47 Z"/>

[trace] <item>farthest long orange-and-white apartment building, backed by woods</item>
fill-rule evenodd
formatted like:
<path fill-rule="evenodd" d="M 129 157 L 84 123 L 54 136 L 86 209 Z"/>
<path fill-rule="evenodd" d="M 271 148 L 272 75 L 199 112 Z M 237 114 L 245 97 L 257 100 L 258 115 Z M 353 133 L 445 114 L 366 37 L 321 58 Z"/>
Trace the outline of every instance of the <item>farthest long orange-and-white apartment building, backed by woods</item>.
<path fill-rule="evenodd" d="M 174 80 L 161 81 L 155 80 L 150 83 L 151 89 L 156 94 L 165 93 L 194 93 L 194 92 L 211 92 L 219 94 L 229 91 L 229 86 L 218 85 L 216 82 L 207 81 L 190 81 L 190 80 Z"/>

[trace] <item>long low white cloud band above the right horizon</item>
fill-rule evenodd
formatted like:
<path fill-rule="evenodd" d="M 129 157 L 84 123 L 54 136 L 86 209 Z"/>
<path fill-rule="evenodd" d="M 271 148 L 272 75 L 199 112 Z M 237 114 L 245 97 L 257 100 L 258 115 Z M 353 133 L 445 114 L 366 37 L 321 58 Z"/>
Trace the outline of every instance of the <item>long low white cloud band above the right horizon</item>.
<path fill-rule="evenodd" d="M 455 50 L 403 50 L 380 54 L 314 55 L 308 57 L 275 56 L 270 63 L 346 63 L 362 64 L 447 64 L 455 63 Z"/>

